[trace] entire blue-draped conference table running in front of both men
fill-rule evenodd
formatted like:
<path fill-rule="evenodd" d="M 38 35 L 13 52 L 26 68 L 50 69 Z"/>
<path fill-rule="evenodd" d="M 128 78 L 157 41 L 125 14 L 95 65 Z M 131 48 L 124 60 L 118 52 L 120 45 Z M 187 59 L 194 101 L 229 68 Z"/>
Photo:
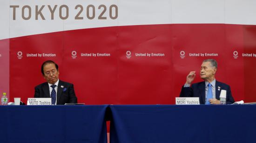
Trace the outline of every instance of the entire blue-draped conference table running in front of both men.
<path fill-rule="evenodd" d="M 256 105 L 0 106 L 0 143 L 255 143 Z"/>

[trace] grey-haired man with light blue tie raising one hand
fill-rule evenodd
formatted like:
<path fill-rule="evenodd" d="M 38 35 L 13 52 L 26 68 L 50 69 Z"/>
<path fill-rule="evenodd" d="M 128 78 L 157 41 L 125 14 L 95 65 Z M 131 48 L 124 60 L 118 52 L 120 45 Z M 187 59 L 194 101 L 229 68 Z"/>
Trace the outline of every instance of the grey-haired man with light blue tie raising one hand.
<path fill-rule="evenodd" d="M 200 104 L 220 104 L 221 90 L 226 90 L 226 104 L 234 103 L 228 84 L 216 81 L 217 62 L 215 59 L 206 59 L 202 62 L 200 77 L 203 82 L 190 84 L 195 79 L 195 71 L 190 71 L 186 84 L 182 86 L 180 97 L 199 97 Z"/>

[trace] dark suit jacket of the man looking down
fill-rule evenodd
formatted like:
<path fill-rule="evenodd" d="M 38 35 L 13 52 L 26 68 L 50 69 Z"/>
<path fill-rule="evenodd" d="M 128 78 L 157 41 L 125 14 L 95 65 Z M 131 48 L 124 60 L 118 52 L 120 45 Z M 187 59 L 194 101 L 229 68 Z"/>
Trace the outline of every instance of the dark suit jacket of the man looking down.
<path fill-rule="evenodd" d="M 34 88 L 35 98 L 50 98 L 50 90 L 47 82 L 37 85 Z M 77 97 L 74 93 L 74 85 L 59 80 L 57 89 L 57 105 L 65 103 L 77 103 Z"/>

